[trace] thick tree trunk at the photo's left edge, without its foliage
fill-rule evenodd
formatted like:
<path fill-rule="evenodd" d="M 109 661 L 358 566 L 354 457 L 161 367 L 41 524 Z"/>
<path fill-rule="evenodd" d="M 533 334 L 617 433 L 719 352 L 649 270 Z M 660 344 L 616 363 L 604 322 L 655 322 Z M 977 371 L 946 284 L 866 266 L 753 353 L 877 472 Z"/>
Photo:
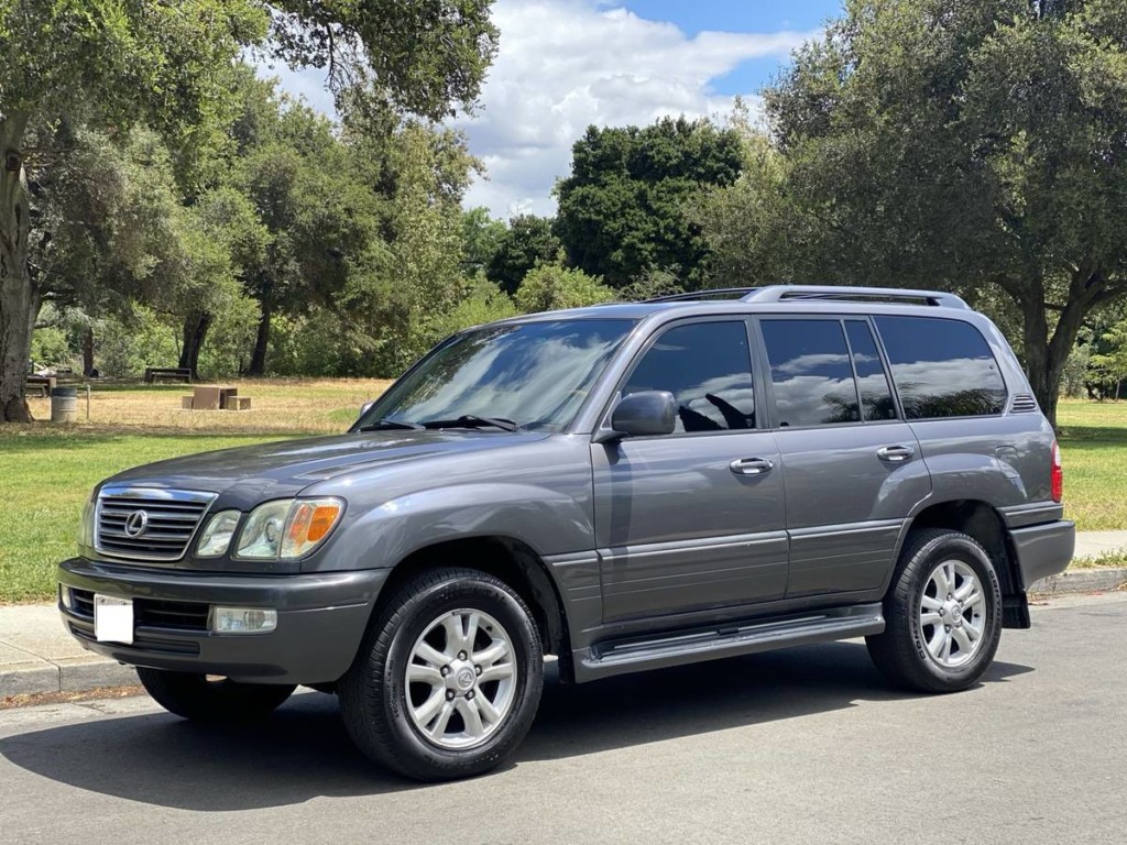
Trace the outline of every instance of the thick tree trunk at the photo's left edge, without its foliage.
<path fill-rule="evenodd" d="M 27 266 L 30 210 L 21 145 L 27 116 L 0 113 L 0 422 L 30 422 L 24 379 L 39 292 Z"/>

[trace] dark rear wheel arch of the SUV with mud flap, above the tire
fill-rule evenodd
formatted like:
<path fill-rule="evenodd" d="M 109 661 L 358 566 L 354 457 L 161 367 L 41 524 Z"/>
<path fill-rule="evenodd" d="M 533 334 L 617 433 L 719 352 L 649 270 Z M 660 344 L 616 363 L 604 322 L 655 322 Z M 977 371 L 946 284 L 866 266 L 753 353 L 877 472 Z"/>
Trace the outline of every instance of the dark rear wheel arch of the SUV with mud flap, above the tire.
<path fill-rule="evenodd" d="M 925 507 L 908 521 L 897 546 L 897 559 L 908 534 L 919 528 L 947 528 L 967 534 L 986 550 L 1002 588 L 1002 626 L 1029 628 L 1029 603 L 1021 587 L 1018 557 L 1002 515 L 980 499 L 950 499 Z"/>

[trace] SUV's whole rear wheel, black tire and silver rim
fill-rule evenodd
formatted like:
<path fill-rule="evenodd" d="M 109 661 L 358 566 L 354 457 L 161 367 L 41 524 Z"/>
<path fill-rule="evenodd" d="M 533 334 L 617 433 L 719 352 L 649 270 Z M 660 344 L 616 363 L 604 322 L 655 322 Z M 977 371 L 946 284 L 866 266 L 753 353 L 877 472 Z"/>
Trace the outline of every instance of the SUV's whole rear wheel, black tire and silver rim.
<path fill-rule="evenodd" d="M 885 631 L 866 643 L 894 683 L 957 692 L 990 668 L 1002 635 L 1001 607 L 997 573 L 974 537 L 916 531 L 885 597 Z"/>

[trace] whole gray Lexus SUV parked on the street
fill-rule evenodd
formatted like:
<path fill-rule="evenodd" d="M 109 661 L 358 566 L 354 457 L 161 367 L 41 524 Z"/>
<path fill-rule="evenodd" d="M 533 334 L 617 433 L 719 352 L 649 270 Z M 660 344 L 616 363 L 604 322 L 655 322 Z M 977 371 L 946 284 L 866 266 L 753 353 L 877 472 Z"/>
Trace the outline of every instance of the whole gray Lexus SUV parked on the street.
<path fill-rule="evenodd" d="M 985 317 L 773 286 L 445 340 L 346 433 L 94 491 L 60 611 L 203 721 L 336 693 L 410 777 L 486 772 L 565 682 L 867 638 L 897 685 L 983 676 L 1062 571 L 1061 457 Z"/>

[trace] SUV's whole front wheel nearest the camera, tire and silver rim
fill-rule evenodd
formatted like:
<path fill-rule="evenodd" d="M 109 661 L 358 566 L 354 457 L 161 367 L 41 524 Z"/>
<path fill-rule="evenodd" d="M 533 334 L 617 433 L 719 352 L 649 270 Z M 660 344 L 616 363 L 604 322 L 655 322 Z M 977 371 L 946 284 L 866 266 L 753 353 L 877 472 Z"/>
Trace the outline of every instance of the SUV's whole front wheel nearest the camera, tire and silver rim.
<path fill-rule="evenodd" d="M 340 681 L 340 709 L 370 758 L 449 780 L 488 772 L 516 749 L 542 684 L 540 637 L 521 597 L 483 572 L 436 569 L 373 622 Z"/>

